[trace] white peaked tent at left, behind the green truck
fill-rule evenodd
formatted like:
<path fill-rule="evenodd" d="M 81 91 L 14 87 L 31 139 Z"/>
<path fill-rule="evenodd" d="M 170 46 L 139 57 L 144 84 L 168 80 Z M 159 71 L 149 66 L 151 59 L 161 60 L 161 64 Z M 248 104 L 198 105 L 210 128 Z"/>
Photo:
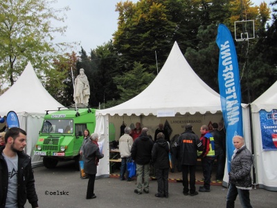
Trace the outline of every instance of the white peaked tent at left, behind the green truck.
<path fill-rule="evenodd" d="M 33 150 L 46 110 L 57 110 L 64 106 L 46 91 L 30 62 L 15 84 L 0 96 L 0 103 L 1 116 L 6 116 L 10 111 L 17 113 L 19 127 L 27 132 L 26 153 L 32 157 L 33 165 L 40 163 L 41 157 L 33 155 Z"/>

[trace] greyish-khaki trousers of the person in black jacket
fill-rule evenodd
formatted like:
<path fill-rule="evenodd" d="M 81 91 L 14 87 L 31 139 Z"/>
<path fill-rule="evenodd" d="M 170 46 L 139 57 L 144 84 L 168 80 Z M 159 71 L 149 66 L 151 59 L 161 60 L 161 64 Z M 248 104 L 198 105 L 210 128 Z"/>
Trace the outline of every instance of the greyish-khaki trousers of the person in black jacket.
<path fill-rule="evenodd" d="M 150 163 L 136 164 L 136 190 L 141 192 L 144 186 L 145 191 L 149 191 Z M 144 183 L 143 183 L 144 179 Z"/>

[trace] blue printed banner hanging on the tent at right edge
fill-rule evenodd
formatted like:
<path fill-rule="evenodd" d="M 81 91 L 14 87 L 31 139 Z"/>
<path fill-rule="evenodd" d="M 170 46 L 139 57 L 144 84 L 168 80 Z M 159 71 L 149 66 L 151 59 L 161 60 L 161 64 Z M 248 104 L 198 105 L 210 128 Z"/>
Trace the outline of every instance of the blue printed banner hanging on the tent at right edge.
<path fill-rule="evenodd" d="M 262 149 L 277 150 L 277 109 L 267 112 L 260 110 Z"/>

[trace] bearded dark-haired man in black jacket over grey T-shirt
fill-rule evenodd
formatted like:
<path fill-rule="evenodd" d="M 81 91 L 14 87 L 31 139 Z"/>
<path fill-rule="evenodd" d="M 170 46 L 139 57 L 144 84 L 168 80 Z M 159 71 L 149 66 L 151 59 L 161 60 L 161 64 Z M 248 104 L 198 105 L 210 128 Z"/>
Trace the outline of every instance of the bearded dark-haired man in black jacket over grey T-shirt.
<path fill-rule="evenodd" d="M 39 207 L 31 159 L 24 153 L 26 132 L 10 128 L 5 141 L 0 148 L 0 207 L 24 207 L 27 199 Z"/>

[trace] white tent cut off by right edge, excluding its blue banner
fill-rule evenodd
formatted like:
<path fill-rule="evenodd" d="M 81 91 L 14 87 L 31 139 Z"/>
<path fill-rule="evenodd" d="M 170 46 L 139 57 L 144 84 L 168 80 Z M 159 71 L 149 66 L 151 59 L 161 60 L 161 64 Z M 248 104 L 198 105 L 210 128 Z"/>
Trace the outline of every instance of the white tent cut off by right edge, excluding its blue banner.
<path fill-rule="evenodd" d="M 277 109 L 277 81 L 251 104 L 253 140 L 255 146 L 256 173 L 259 187 L 277 191 L 277 150 L 262 150 L 260 110 Z"/>

